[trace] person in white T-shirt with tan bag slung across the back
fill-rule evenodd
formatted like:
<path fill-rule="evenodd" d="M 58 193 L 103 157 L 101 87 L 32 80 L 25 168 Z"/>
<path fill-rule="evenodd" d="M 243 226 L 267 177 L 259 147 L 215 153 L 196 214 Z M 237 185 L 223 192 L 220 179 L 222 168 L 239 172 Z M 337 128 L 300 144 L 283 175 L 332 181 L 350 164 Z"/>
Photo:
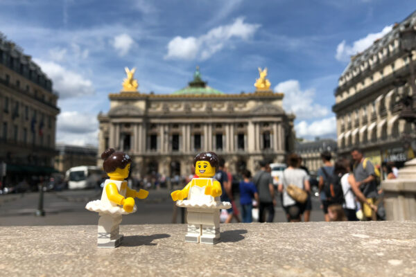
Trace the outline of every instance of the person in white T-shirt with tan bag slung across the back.
<path fill-rule="evenodd" d="M 293 216 L 290 215 L 289 211 L 291 211 L 292 206 L 297 206 L 302 215 L 308 193 L 311 191 L 308 175 L 298 166 L 299 156 L 290 154 L 288 157 L 288 168 L 284 170 L 282 183 L 279 184 L 279 192 L 283 193 L 283 208 L 288 222 L 300 221 L 300 217 L 293 220 Z"/>

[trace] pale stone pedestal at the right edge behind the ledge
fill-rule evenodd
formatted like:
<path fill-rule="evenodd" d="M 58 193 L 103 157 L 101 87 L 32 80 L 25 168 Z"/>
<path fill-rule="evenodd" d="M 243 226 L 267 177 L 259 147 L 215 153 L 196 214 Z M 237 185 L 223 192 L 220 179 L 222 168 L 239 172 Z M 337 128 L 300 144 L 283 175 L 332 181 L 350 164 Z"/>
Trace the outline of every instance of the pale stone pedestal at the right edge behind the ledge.
<path fill-rule="evenodd" d="M 406 162 L 399 177 L 384 180 L 381 187 L 387 220 L 416 220 L 416 159 Z"/>

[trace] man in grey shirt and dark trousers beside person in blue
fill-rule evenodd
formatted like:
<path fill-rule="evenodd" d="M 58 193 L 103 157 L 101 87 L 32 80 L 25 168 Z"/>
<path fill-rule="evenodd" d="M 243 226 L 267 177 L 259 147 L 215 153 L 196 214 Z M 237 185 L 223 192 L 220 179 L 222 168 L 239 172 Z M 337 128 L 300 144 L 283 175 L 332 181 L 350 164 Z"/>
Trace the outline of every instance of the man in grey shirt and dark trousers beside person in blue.
<path fill-rule="evenodd" d="M 273 222 L 275 217 L 275 187 L 272 175 L 269 172 L 268 161 L 260 161 L 260 171 L 253 178 L 253 182 L 259 192 L 259 222 Z M 266 211 L 268 217 L 266 220 Z"/>

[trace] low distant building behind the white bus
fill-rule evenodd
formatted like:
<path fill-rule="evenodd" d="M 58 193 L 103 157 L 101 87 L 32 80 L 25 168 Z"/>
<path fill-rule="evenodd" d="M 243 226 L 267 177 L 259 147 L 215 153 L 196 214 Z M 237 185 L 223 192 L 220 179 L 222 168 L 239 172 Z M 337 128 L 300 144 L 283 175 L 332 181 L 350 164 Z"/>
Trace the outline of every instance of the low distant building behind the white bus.
<path fill-rule="evenodd" d="M 97 148 L 94 146 L 56 144 L 55 169 L 65 173 L 74 166 L 96 166 Z"/>

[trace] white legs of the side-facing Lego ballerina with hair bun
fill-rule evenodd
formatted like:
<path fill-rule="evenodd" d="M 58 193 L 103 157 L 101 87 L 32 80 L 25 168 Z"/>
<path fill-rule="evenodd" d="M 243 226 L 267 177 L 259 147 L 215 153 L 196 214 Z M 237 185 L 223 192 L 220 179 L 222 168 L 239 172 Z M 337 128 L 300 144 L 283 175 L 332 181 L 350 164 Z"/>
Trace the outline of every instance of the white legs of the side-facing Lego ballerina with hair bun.
<path fill-rule="evenodd" d="M 100 213 L 98 220 L 98 239 L 99 248 L 116 248 L 123 240 L 123 235 L 119 234 L 121 215 L 111 216 Z"/>

